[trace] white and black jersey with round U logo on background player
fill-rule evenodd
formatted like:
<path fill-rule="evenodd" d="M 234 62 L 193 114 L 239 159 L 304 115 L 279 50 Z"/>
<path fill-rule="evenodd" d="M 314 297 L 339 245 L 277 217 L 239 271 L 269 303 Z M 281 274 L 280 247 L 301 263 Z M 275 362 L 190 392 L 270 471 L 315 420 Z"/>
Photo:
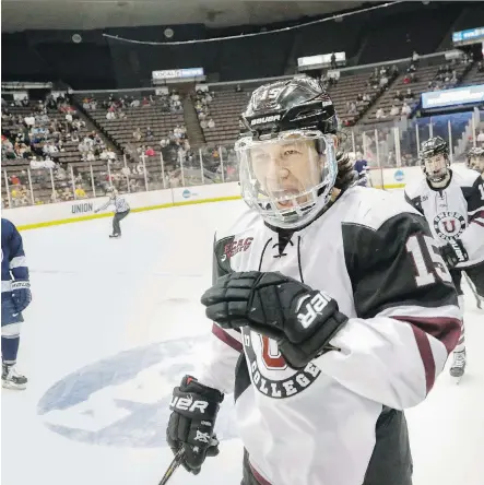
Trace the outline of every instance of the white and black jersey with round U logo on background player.
<path fill-rule="evenodd" d="M 421 212 L 439 246 L 460 238 L 469 261 L 458 269 L 484 261 L 484 180 L 475 170 L 450 171 L 442 189 L 433 189 L 425 176 L 405 187 L 405 199 Z"/>

